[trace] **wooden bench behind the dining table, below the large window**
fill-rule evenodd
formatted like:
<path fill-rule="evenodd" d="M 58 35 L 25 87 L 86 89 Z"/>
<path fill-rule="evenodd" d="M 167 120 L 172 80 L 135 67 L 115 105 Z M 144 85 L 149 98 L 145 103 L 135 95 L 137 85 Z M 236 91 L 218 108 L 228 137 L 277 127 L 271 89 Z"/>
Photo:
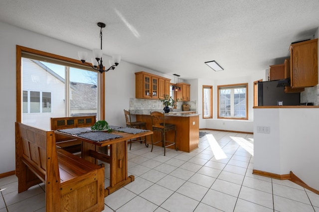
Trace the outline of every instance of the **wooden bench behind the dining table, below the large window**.
<path fill-rule="evenodd" d="M 50 128 L 51 130 L 57 130 L 74 127 L 90 127 L 93 126 L 95 122 L 95 115 L 50 118 Z M 70 138 L 62 135 L 55 135 L 55 139 L 57 146 L 68 152 L 78 153 L 82 150 L 82 141 L 80 140 L 71 140 Z"/>

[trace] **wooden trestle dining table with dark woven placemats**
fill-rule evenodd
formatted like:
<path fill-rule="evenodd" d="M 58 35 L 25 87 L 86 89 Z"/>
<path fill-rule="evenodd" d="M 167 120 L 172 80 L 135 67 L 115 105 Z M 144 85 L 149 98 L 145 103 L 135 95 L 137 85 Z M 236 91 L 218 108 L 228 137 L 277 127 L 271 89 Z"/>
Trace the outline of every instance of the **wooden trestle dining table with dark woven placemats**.
<path fill-rule="evenodd" d="M 78 131 L 77 131 L 78 130 Z M 128 176 L 128 140 L 153 134 L 153 131 L 129 127 L 116 128 L 112 132 L 92 131 L 89 128 L 70 128 L 54 131 L 56 134 L 82 141 L 81 157 L 92 163 L 98 160 L 110 164 L 110 185 L 104 190 L 104 197 L 135 180 L 134 175 Z M 76 133 L 80 132 L 80 133 Z M 110 146 L 106 154 L 100 147 Z"/>

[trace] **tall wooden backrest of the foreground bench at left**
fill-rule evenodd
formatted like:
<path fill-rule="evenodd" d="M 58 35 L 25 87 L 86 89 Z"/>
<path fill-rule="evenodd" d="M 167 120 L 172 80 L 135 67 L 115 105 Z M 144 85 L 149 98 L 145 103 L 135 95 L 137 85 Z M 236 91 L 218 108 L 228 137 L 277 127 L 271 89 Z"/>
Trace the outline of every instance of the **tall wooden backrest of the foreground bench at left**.
<path fill-rule="evenodd" d="M 28 178 L 23 170 L 27 165 L 43 183 L 45 183 L 46 208 L 58 211 L 60 208 L 60 174 L 56 153 L 54 131 L 45 131 L 39 128 L 15 122 L 15 154 L 16 175 Z M 34 185 L 34 181 L 27 181 Z M 31 185 L 18 185 L 19 192 L 26 190 Z M 54 195 L 49 195 L 54 193 Z M 47 210 L 51 211 L 51 210 Z"/>

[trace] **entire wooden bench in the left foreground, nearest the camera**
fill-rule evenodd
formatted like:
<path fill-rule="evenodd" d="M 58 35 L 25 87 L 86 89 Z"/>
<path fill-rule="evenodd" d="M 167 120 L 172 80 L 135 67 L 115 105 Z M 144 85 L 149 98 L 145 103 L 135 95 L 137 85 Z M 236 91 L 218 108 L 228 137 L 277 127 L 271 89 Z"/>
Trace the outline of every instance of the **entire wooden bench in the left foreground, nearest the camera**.
<path fill-rule="evenodd" d="M 43 182 L 46 212 L 104 210 L 104 167 L 56 148 L 54 131 L 15 122 L 18 193 Z"/>

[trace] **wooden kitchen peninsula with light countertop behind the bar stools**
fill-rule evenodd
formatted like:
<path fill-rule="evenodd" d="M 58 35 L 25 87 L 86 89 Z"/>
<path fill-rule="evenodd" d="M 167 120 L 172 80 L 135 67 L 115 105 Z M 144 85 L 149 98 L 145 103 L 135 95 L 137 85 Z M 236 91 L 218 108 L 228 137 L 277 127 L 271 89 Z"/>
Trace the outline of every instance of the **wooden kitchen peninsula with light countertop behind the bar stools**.
<path fill-rule="evenodd" d="M 191 152 L 194 149 L 198 148 L 199 114 L 191 112 L 195 111 L 165 113 L 165 122 L 176 125 L 176 147 L 178 147 L 179 151 Z M 152 130 L 152 119 L 150 110 L 131 110 L 131 114 L 136 114 L 136 120 L 146 122 L 146 128 Z M 174 133 L 167 133 L 166 136 L 167 140 L 174 139 Z M 154 141 L 160 140 L 160 133 L 155 132 L 153 135 L 153 139 Z M 151 136 L 147 136 L 147 142 L 152 142 Z"/>

